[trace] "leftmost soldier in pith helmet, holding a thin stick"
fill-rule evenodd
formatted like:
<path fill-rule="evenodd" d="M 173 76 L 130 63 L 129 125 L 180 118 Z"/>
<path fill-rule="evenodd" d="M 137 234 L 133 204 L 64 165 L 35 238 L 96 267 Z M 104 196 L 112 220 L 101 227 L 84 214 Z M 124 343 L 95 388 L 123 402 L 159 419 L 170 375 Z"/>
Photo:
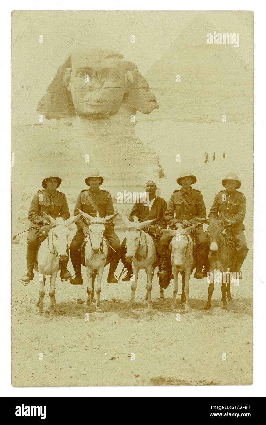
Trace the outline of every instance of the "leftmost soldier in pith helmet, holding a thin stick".
<path fill-rule="evenodd" d="M 67 205 L 67 198 L 64 193 L 59 192 L 57 188 L 60 186 L 62 179 L 58 176 L 56 171 L 50 171 L 46 173 L 46 176 L 42 181 L 43 189 L 39 190 L 32 198 L 31 206 L 28 212 L 28 219 L 31 222 L 30 227 L 38 227 L 31 229 L 28 232 L 27 237 L 27 268 L 28 271 L 20 280 L 22 283 L 28 283 L 33 280 L 33 269 L 36 259 L 36 249 L 40 242 L 39 235 L 47 235 L 49 231 L 49 225 L 43 218 L 42 213 L 50 215 L 53 218 L 62 217 L 65 220 L 70 218 L 70 213 Z M 40 224 L 43 226 L 40 228 Z M 60 260 L 61 280 L 70 280 L 71 275 L 67 270 L 68 257 L 66 260 Z"/>

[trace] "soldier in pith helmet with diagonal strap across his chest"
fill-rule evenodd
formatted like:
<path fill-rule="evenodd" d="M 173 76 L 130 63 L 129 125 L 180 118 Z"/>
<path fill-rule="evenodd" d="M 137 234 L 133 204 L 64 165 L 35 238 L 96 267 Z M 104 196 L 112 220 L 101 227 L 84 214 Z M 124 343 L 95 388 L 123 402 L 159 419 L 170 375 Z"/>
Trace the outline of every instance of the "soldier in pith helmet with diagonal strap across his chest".
<path fill-rule="evenodd" d="M 107 190 L 101 190 L 99 186 L 103 184 L 104 178 L 96 168 L 91 168 L 89 176 L 85 178 L 85 183 L 89 186 L 89 189 L 81 190 L 78 195 L 74 215 L 79 214 L 78 210 L 87 212 L 87 214 L 96 217 L 97 211 L 100 217 L 114 214 L 114 205 L 112 196 Z M 81 243 L 84 241 L 86 235 L 89 235 L 89 226 L 87 222 L 80 218 L 76 221 L 78 230 L 70 244 L 70 258 L 75 270 L 75 278 L 70 280 L 72 285 L 82 285 L 83 279 L 81 275 L 81 257 L 79 248 Z M 108 243 L 115 249 L 115 252 L 111 250 L 110 266 L 107 282 L 118 283 L 115 277 L 115 270 L 120 260 L 120 241 L 114 231 L 114 223 L 106 224 L 104 230 L 104 236 Z"/>

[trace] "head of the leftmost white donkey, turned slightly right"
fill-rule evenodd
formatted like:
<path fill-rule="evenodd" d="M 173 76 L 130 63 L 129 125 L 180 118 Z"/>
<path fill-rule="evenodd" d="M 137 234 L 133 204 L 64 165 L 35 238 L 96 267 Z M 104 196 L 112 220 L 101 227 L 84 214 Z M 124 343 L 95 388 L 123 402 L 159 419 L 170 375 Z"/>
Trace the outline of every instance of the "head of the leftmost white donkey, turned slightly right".
<path fill-rule="evenodd" d="M 70 236 L 68 227 L 80 218 L 80 214 L 67 218 L 67 220 L 61 217 L 53 218 L 46 214 L 46 212 L 43 212 L 42 215 L 53 228 L 54 252 L 58 255 L 59 260 L 65 260 L 67 258 L 67 245 L 69 244 Z"/>

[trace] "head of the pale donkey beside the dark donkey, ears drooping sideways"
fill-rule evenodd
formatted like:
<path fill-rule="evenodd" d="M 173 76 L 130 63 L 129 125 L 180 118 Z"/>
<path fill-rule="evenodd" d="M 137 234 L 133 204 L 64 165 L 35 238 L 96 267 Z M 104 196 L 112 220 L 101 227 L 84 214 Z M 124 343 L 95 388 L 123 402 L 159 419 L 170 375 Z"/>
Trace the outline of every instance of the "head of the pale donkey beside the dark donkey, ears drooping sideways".
<path fill-rule="evenodd" d="M 161 232 L 165 235 L 173 236 L 171 240 L 172 244 L 172 264 L 177 268 L 181 268 L 185 263 L 185 257 L 188 249 L 188 238 L 190 232 L 193 232 L 198 224 L 193 224 L 185 229 L 179 227 L 177 230 L 174 229 L 161 229 Z"/>

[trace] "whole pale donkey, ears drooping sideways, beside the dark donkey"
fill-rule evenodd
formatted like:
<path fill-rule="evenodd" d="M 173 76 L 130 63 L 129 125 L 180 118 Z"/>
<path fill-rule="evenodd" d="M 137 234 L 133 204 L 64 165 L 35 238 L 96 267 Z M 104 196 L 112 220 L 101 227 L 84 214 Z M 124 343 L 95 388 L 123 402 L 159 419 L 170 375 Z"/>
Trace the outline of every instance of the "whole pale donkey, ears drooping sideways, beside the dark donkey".
<path fill-rule="evenodd" d="M 190 312 L 189 303 L 189 280 L 193 269 L 196 267 L 196 258 L 194 257 L 193 239 L 189 235 L 198 224 L 186 227 L 185 229 L 179 227 L 174 229 L 161 229 L 166 235 L 172 235 L 171 240 L 171 264 L 174 275 L 174 289 L 173 289 L 173 309 L 176 309 L 176 294 L 178 291 L 178 273 L 182 276 L 182 295 L 181 302 L 185 301 L 185 311 Z M 185 293 L 184 293 L 185 288 Z"/>

